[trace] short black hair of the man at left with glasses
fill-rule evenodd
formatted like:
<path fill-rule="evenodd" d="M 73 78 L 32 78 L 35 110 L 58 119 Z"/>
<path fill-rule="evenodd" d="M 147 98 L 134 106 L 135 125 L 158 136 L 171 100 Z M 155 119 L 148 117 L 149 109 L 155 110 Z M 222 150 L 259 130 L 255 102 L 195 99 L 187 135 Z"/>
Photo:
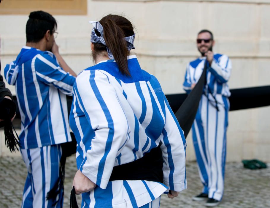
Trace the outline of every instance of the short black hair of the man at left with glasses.
<path fill-rule="evenodd" d="M 31 12 L 26 23 L 26 42 L 39 42 L 47 30 L 50 34 L 57 29 L 55 18 L 47 12 Z"/>

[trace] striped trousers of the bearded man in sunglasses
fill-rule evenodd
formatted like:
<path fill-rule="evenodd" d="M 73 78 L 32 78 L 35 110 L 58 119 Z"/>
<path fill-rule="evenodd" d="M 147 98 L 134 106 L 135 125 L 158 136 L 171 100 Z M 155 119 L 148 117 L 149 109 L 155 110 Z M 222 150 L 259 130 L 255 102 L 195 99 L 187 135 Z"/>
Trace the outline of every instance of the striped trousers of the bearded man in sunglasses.
<path fill-rule="evenodd" d="M 203 193 L 208 194 L 208 198 L 220 201 L 224 191 L 226 131 L 230 104 L 227 97 L 217 94 L 217 111 L 215 101 L 209 99 L 202 95 L 192 126 L 192 136 L 199 175 L 204 185 Z"/>

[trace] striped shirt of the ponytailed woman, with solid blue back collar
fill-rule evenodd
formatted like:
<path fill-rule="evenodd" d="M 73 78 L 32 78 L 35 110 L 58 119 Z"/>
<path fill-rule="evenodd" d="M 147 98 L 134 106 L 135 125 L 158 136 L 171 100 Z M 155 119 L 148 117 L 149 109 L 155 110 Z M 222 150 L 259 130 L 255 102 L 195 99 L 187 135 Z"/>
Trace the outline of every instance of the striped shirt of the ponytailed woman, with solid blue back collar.
<path fill-rule="evenodd" d="M 82 194 L 84 207 L 140 207 L 168 188 L 186 185 L 184 133 L 158 80 L 128 56 L 131 77 L 114 60 L 83 70 L 73 87 L 69 117 L 77 140 L 77 168 L 96 188 Z M 137 160 L 162 143 L 164 184 L 109 181 L 112 168 Z"/>

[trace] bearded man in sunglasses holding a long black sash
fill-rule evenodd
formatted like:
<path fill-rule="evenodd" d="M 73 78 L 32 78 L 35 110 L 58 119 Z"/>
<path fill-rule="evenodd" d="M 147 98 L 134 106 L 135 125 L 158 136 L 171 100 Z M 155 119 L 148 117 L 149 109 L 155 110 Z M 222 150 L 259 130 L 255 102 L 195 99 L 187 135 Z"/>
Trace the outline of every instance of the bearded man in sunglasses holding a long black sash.
<path fill-rule="evenodd" d="M 201 57 L 187 65 L 184 90 L 189 93 L 199 80 L 204 67 L 206 81 L 201 101 L 192 126 L 193 144 L 203 184 L 202 193 L 195 201 L 206 201 L 207 207 L 220 203 L 224 191 L 226 131 L 228 127 L 228 97 L 231 95 L 228 80 L 231 75 L 231 60 L 225 54 L 213 53 L 213 34 L 201 30 L 197 48 Z"/>

